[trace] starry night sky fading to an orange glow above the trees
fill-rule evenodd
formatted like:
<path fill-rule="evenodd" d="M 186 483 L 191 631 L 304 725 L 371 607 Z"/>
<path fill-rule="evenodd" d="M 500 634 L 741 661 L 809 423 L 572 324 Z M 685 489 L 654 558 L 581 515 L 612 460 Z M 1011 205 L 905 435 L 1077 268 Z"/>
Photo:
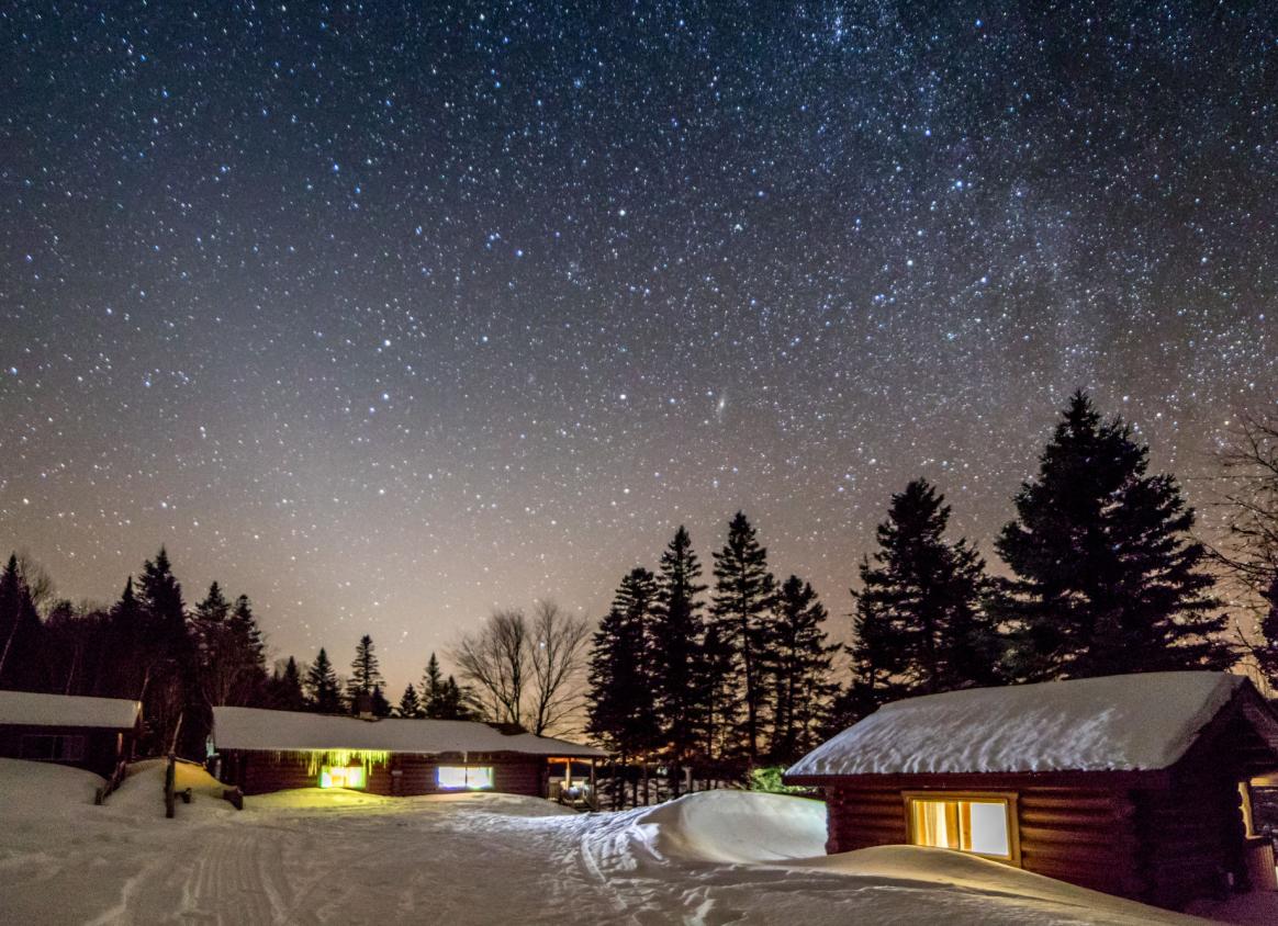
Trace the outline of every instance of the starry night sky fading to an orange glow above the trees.
<path fill-rule="evenodd" d="M 1079 387 L 1201 506 L 1278 392 L 1278 17 L 1048 6 L 5 5 L 0 548 L 166 544 L 397 691 L 737 508 L 836 616 L 916 475 L 988 552 Z"/>

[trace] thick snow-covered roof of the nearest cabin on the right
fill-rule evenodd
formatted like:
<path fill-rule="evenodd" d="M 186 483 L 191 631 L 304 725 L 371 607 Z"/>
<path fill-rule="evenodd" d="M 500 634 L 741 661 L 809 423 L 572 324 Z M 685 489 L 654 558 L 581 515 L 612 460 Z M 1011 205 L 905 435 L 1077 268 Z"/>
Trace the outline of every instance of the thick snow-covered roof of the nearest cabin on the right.
<path fill-rule="evenodd" d="M 1149 672 L 910 697 L 818 746 L 786 775 L 1166 769 L 1245 681 Z"/>

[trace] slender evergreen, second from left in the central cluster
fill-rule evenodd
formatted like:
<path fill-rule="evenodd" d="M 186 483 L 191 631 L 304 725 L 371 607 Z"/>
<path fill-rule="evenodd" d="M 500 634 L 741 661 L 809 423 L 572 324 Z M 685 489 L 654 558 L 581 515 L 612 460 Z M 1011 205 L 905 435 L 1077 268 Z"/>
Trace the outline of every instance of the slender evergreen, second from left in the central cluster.
<path fill-rule="evenodd" d="M 665 740 L 670 743 L 674 796 L 679 775 L 690 759 L 703 722 L 702 635 L 704 621 L 698 600 L 705 591 L 702 565 L 682 526 L 661 554 L 657 605 L 653 611 L 653 695 Z"/>

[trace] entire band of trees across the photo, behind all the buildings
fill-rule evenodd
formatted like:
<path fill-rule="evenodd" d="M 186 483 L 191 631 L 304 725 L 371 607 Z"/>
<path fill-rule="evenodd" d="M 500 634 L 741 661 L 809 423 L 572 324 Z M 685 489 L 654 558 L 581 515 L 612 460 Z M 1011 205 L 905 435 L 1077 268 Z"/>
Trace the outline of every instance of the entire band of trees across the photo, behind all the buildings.
<path fill-rule="evenodd" d="M 395 701 L 371 635 L 344 677 L 323 648 L 270 660 L 252 602 L 212 582 L 188 604 L 164 548 L 109 607 L 59 598 L 15 553 L 0 573 L 0 687 L 141 700 L 142 751 L 190 757 L 217 705 L 585 734 L 677 794 L 685 774 L 787 764 L 901 697 L 1238 667 L 1278 683 L 1278 419 L 1241 416 L 1219 465 L 1227 520 L 1208 545 L 1132 427 L 1075 393 L 994 539 L 1002 570 L 948 535 L 944 496 L 916 479 L 849 570 L 854 611 L 836 627 L 808 581 L 773 575 L 737 512 L 708 570 L 680 528 L 597 622 L 546 602 L 495 612 L 445 653 L 452 674 L 431 653 Z"/>

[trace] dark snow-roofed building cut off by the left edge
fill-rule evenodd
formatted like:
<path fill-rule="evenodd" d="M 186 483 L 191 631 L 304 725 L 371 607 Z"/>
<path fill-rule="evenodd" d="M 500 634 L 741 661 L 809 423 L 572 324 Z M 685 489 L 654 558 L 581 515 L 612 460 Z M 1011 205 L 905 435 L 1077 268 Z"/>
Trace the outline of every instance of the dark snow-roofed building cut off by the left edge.
<path fill-rule="evenodd" d="M 0 691 L 0 756 L 110 778 L 133 754 L 142 705 L 118 697 Z"/>

